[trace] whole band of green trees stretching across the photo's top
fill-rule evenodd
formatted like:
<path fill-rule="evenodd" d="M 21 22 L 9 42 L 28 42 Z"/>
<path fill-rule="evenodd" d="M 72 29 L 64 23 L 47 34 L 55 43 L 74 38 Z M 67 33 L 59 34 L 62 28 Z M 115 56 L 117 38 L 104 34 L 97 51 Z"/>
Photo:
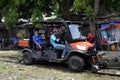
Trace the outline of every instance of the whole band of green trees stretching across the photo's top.
<path fill-rule="evenodd" d="M 92 19 L 100 14 L 119 13 L 119 5 L 119 0 L 0 0 L 0 20 L 4 18 L 10 28 L 20 18 L 42 20 L 43 14 L 78 20 L 84 13 Z"/>

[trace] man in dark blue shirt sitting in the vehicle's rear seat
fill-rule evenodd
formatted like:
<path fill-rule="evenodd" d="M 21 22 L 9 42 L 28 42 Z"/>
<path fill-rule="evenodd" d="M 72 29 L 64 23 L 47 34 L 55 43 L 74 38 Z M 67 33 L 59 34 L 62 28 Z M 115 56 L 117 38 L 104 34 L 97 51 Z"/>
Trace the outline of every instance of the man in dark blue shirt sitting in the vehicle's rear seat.
<path fill-rule="evenodd" d="M 42 42 L 42 37 L 40 35 L 38 35 L 38 31 L 36 30 L 34 32 L 35 35 L 32 36 L 33 42 L 35 43 L 35 47 L 38 50 L 42 50 L 43 49 L 43 42 Z"/>

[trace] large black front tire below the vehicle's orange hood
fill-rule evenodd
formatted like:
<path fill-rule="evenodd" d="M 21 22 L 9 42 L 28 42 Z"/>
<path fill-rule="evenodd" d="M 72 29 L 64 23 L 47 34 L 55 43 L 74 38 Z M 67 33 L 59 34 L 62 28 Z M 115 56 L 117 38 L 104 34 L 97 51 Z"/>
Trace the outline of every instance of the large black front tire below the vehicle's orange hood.
<path fill-rule="evenodd" d="M 79 72 L 83 70 L 85 63 L 84 60 L 79 56 L 72 56 L 68 61 L 70 70 Z"/>

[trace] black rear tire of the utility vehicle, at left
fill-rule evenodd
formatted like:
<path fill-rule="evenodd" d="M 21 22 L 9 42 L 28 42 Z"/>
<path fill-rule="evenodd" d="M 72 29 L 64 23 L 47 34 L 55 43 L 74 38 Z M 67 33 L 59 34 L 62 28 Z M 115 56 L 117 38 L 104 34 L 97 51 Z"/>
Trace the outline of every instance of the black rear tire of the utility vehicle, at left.
<path fill-rule="evenodd" d="M 29 52 L 23 53 L 23 62 L 26 65 L 31 65 L 33 63 L 33 58 Z"/>

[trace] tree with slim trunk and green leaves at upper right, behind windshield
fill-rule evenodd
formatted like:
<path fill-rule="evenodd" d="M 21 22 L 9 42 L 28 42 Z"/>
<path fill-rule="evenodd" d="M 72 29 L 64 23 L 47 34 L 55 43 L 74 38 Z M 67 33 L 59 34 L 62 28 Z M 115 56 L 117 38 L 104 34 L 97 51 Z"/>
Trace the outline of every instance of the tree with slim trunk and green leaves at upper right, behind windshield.
<path fill-rule="evenodd" d="M 85 12 L 90 19 L 92 32 L 95 32 L 95 21 L 98 16 L 105 16 L 111 13 L 120 13 L 119 0 L 75 0 L 75 12 Z M 79 15 L 78 14 L 78 15 Z"/>

